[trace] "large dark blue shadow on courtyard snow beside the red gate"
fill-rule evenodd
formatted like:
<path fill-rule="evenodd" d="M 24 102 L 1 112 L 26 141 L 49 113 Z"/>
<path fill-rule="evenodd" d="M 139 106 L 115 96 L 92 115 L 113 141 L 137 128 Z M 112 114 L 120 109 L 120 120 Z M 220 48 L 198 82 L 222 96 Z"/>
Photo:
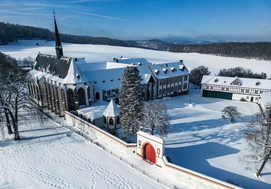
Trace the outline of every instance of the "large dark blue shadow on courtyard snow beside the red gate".
<path fill-rule="evenodd" d="M 271 185 L 268 183 L 264 183 L 259 180 L 251 179 L 243 175 L 213 167 L 207 161 L 208 159 L 212 158 L 218 158 L 230 154 L 237 154 L 239 151 L 240 150 L 215 142 L 207 142 L 204 144 L 190 145 L 179 148 L 165 148 L 165 154 L 169 155 L 176 165 L 191 169 L 193 171 L 197 171 L 199 173 L 217 178 L 222 181 L 226 181 L 227 179 L 232 179 L 235 182 L 238 181 L 240 187 L 247 189 L 271 188 Z M 236 161 L 238 161 L 238 159 L 236 159 Z M 231 164 L 231 162 L 227 161 L 221 163 L 228 164 L 227 167 L 230 167 Z M 263 173 L 262 175 L 264 174 L 265 173 Z"/>

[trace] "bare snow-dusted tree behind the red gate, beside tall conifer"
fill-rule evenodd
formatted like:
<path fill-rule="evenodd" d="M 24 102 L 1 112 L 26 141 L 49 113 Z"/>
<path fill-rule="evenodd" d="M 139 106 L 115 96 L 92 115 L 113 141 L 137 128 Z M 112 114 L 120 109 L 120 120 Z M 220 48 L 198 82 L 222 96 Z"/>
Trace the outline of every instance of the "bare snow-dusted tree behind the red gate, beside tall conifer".
<path fill-rule="evenodd" d="M 167 137 L 168 133 L 170 133 L 168 125 L 171 117 L 164 102 L 159 102 L 158 104 L 147 102 L 144 104 L 140 114 L 141 118 L 137 123 L 138 131 L 148 130 L 151 135 L 158 131 L 161 138 Z"/>

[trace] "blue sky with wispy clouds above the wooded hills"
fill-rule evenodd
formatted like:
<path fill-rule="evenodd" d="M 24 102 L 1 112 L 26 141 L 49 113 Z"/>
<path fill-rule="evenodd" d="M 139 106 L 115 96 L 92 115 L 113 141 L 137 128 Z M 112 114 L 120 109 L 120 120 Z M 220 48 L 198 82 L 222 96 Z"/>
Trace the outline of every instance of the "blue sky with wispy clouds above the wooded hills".
<path fill-rule="evenodd" d="M 1 0 L 0 21 L 116 39 L 271 40 L 271 1 Z"/>

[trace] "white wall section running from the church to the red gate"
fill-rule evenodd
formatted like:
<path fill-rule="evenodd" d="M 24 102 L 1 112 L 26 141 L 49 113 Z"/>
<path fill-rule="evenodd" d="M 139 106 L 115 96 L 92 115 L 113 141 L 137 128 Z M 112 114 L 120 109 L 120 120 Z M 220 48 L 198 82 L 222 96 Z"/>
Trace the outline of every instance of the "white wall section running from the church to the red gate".
<path fill-rule="evenodd" d="M 99 139 L 100 141 L 110 145 L 112 148 L 118 150 L 125 155 L 136 155 L 136 144 L 129 144 L 123 140 L 103 131 L 101 128 L 85 121 L 84 119 L 65 111 L 65 119 L 80 128 L 89 135 Z"/>

